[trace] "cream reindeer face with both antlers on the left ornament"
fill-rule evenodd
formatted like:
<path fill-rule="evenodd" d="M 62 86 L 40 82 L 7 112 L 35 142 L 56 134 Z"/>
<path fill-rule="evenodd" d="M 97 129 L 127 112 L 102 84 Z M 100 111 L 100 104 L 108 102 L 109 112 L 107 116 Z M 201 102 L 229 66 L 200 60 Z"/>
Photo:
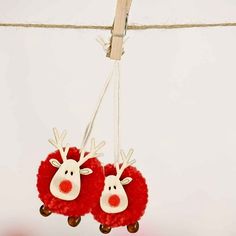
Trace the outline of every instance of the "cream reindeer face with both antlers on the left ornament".
<path fill-rule="evenodd" d="M 66 147 L 63 148 L 62 143 L 65 139 L 66 131 L 61 135 L 57 129 L 53 129 L 53 132 L 55 140 L 50 139 L 49 142 L 59 150 L 63 163 L 60 163 L 56 159 L 50 160 L 51 165 L 58 168 L 51 180 L 50 192 L 56 198 L 65 201 L 72 201 L 76 199 L 80 193 L 80 175 L 90 175 L 93 173 L 90 168 L 81 169 L 81 165 L 90 158 L 97 157 L 99 155 L 97 151 L 101 149 L 105 143 L 102 142 L 98 146 L 95 146 L 95 141 L 93 139 L 90 153 L 84 156 L 84 152 L 82 151 L 80 160 L 77 162 L 72 159 L 67 159 L 69 145 L 67 144 Z"/>

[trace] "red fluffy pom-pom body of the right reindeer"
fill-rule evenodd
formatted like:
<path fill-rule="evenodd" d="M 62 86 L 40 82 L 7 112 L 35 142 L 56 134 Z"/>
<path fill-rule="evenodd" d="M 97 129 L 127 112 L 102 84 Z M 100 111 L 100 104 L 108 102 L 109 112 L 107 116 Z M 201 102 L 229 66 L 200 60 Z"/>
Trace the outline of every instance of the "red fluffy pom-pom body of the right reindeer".
<path fill-rule="evenodd" d="M 116 169 L 112 164 L 105 166 L 105 176 L 108 175 L 116 175 Z M 120 213 L 106 213 L 101 209 L 99 201 L 92 209 L 94 218 L 102 225 L 114 228 L 135 224 L 145 212 L 148 202 L 148 188 L 144 177 L 132 166 L 125 169 L 120 179 L 122 180 L 125 177 L 133 179 L 130 184 L 123 186 L 129 202 L 126 210 Z M 116 200 L 114 202 L 117 203 Z M 114 202 L 112 200 L 112 203 Z"/>

